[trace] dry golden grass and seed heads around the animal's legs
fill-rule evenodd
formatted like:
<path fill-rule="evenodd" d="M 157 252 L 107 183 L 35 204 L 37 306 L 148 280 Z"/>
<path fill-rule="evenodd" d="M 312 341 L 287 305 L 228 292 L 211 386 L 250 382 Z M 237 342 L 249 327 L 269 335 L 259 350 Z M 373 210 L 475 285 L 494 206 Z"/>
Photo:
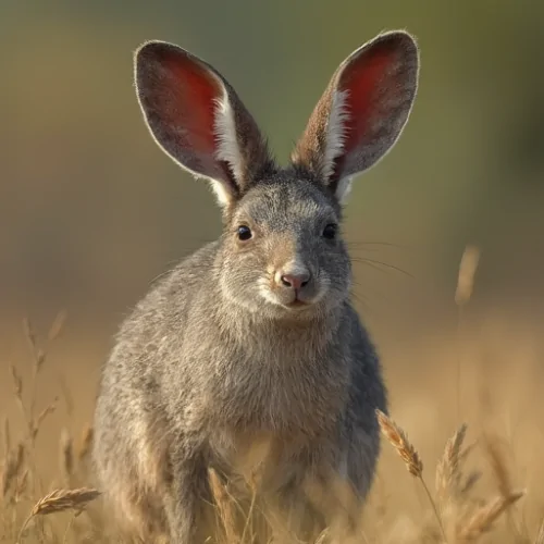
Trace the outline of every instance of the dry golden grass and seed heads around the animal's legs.
<path fill-rule="evenodd" d="M 456 294 L 459 308 L 470 301 L 478 258 L 474 248 L 463 256 Z M 59 338 L 64 319 L 61 314 L 54 320 L 41 343 L 25 321 L 23 334 L 30 364 L 26 372 L 22 366 L 9 366 L 4 376 L 11 382 L 9 403 L 16 407 L 18 419 L 13 415 L 2 418 L 0 428 L 0 543 L 118 542 L 101 517 L 100 491 L 91 485 L 88 457 L 92 428 L 87 423 L 79 431 L 71 421 L 74 406 L 77 407 L 74 403 L 77 392 L 60 382 L 58 398 L 51 395 L 45 401 L 37 399 L 40 380 L 48 372 L 51 345 Z M 459 329 L 461 320 L 459 312 Z M 495 342 L 499 336 L 494 336 Z M 540 373 L 533 362 L 523 367 L 527 380 L 514 394 L 514 378 L 522 372 L 522 359 L 517 359 L 515 373 L 508 373 L 504 367 L 494 368 L 491 374 L 483 372 L 482 388 L 478 384 L 482 369 L 471 361 L 463 366 L 466 381 L 461 383 L 455 379 L 461 378 L 458 373 L 461 359 L 455 358 L 456 349 L 460 354 L 460 342 L 457 337 L 452 344 L 455 360 L 447 367 L 452 374 L 446 379 L 444 368 L 432 364 L 420 368 L 420 374 L 411 371 L 408 378 L 399 379 L 407 388 L 404 398 L 410 401 L 404 403 L 404 409 L 396 408 L 403 406 L 401 401 L 395 403 L 395 419 L 410 429 L 410 438 L 392 417 L 376 413 L 384 446 L 378 480 L 364 512 L 359 514 L 358 536 L 338 540 L 337 523 L 332 523 L 313 544 L 544 543 L 544 490 L 541 485 L 528 490 L 520 485 L 520 482 L 536 483 L 544 475 L 541 460 L 544 433 L 537 425 L 544 413 L 537 403 L 527 400 L 520 406 L 531 406 L 534 412 L 522 409 L 518 420 L 512 416 L 512 406 L 531 396 L 530 384 L 537 383 Z M 411 391 L 421 383 L 430 392 L 429 398 L 431 393 L 435 397 L 432 405 L 415 409 L 416 394 Z M 461 408 L 469 424 L 459 421 L 459 409 L 455 406 L 461 387 L 473 390 L 472 394 L 463 391 L 462 397 Z M 52 417 L 57 418 L 54 425 L 48 423 Z M 58 457 L 44 459 L 41 444 L 51 440 L 52 429 Z M 387 447 L 387 442 L 392 447 Z M 431 474 L 434 489 L 429 485 Z M 257 542 L 258 533 L 251 521 L 254 510 L 259 509 L 255 499 L 257 475 L 255 481 L 254 477 L 250 480 L 254 499 L 243 510 L 233 500 L 228 482 L 210 472 L 215 512 L 215 540 L 210 540 L 211 544 Z M 329 502 L 343 500 L 335 485 L 320 493 Z M 242 511 L 251 515 L 240 524 Z M 287 543 L 287 536 L 273 542 Z"/>

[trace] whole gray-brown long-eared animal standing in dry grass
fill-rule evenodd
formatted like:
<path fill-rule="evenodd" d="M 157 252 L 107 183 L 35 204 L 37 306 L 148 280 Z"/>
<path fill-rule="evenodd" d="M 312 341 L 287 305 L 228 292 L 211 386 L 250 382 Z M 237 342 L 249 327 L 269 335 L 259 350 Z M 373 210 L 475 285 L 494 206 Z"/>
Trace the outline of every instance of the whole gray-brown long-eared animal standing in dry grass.
<path fill-rule="evenodd" d="M 136 537 L 201 542 L 210 469 L 239 504 L 240 482 L 259 473 L 258 494 L 286 516 L 310 512 L 318 530 L 331 478 L 363 504 L 380 450 L 375 409 L 386 411 L 387 395 L 350 302 L 342 208 L 354 176 L 399 137 L 418 73 L 405 32 L 357 49 L 280 168 L 217 70 L 163 41 L 136 51 L 151 135 L 210 182 L 224 224 L 136 306 L 102 371 L 96 473 Z M 308 491 L 316 482 L 321 494 Z"/>

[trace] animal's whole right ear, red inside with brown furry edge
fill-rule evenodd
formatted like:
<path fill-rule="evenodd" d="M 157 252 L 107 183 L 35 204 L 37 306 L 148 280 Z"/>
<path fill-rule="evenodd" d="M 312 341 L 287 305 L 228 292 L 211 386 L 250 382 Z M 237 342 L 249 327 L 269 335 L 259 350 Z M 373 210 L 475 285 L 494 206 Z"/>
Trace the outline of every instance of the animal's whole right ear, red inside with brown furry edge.
<path fill-rule="evenodd" d="M 394 146 L 418 86 L 419 54 L 400 30 L 382 34 L 351 53 L 318 102 L 292 161 L 329 186 L 339 201 L 351 177 Z"/>

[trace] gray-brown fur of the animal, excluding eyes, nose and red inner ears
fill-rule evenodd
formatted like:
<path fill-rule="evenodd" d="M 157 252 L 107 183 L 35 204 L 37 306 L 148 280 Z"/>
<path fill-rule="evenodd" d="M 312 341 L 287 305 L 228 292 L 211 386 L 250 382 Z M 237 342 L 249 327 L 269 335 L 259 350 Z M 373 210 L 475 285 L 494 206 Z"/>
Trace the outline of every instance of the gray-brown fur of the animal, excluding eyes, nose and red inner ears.
<path fill-rule="evenodd" d="M 413 44 L 404 33 L 390 39 L 400 49 L 407 40 Z M 227 89 L 233 157 L 242 162 L 225 169 L 217 153 L 202 154 L 190 131 L 169 125 L 169 112 L 158 112 L 161 102 L 153 102 L 157 89 L 175 97 L 175 89 L 161 88 L 171 84 L 161 78 L 164 47 L 174 60 L 188 54 L 162 42 L 139 50 L 144 115 L 169 154 L 225 186 L 224 230 L 163 277 L 121 326 L 96 408 L 100 485 L 118 519 L 143 541 L 164 533 L 177 544 L 199 542 L 203 505 L 211 500 L 207 470 L 236 482 L 254 472 L 251 446 L 263 442 L 263 496 L 310 512 L 316 500 L 301 490 L 333 477 L 362 504 L 380 449 L 374 410 L 386 411 L 386 391 L 373 345 L 350 304 L 345 244 L 339 233 L 335 239 L 323 236 L 325 225 L 342 222 L 342 208 L 330 180 L 312 168 L 320 151 L 313 149 L 311 159 L 299 152 L 287 169 L 275 166 L 231 87 L 190 57 L 205 70 L 205 85 L 211 82 L 210 92 Z M 395 125 L 392 145 L 398 123 L 383 121 Z M 326 119 L 321 126 L 325 129 Z M 183 138 L 172 140 L 176 134 Z M 299 149 L 311 148 L 305 137 Z M 348 162 L 356 164 L 357 158 Z M 240 224 L 251 228 L 251 239 L 238 239 Z M 310 279 L 295 293 L 279 277 L 299 270 Z M 296 299 L 300 302 L 293 306 Z M 242 502 L 243 487 L 235 489 Z"/>

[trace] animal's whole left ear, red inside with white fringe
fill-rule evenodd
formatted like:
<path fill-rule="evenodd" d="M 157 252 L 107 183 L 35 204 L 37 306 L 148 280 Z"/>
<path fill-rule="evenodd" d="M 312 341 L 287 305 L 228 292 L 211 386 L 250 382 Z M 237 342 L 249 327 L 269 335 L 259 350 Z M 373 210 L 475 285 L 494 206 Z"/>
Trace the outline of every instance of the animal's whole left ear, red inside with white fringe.
<path fill-rule="evenodd" d="M 257 124 L 228 83 L 184 49 L 149 41 L 135 53 L 138 102 L 159 146 L 221 205 L 238 198 L 271 164 Z"/>

